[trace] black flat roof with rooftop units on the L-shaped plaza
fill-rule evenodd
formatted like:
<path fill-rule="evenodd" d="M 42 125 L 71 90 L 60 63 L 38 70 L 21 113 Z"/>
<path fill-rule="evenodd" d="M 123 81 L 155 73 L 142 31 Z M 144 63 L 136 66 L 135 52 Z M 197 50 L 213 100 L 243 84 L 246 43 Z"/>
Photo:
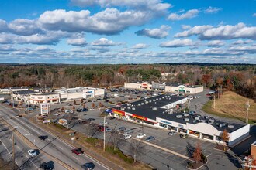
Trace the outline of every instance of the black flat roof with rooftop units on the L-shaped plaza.
<path fill-rule="evenodd" d="M 159 95 L 156 97 L 150 97 L 147 98 L 147 104 L 145 103 L 146 100 L 138 100 L 133 103 L 130 103 L 130 109 L 129 105 L 123 104 L 122 107 L 124 108 L 124 111 L 130 113 L 130 114 L 137 114 L 142 117 L 147 117 L 152 120 L 156 120 L 157 117 L 165 119 L 167 121 L 175 121 L 180 124 L 198 124 L 201 122 L 209 123 L 211 124 L 214 128 L 216 128 L 218 131 L 223 131 L 224 129 L 227 129 L 228 132 L 233 132 L 236 131 L 239 128 L 244 127 L 245 124 L 236 124 L 236 123 L 228 123 L 225 121 L 218 121 L 213 117 L 209 116 L 202 116 L 200 114 L 195 114 L 195 115 L 190 115 L 189 113 L 173 113 L 173 114 L 168 114 L 166 110 L 161 107 L 164 107 L 168 104 L 174 103 L 178 100 L 182 100 L 185 97 L 179 97 L 179 96 L 171 96 L 171 95 Z M 158 99 L 158 100 L 157 100 Z M 161 100 L 159 100 L 161 99 Z M 151 102 L 150 102 L 151 100 Z M 155 100 L 155 101 L 153 101 Z M 144 104 L 142 104 L 144 103 Z M 140 106 L 138 106 L 140 104 Z M 135 108 L 135 110 L 132 110 L 132 108 Z M 157 108 L 157 110 L 154 110 L 153 108 Z M 113 107 L 118 110 L 121 110 L 119 107 Z M 179 116 L 178 116 L 179 115 Z M 178 116 L 178 117 L 177 117 Z M 198 120 L 197 120 L 198 119 Z M 212 122 L 209 120 L 213 120 Z"/>

